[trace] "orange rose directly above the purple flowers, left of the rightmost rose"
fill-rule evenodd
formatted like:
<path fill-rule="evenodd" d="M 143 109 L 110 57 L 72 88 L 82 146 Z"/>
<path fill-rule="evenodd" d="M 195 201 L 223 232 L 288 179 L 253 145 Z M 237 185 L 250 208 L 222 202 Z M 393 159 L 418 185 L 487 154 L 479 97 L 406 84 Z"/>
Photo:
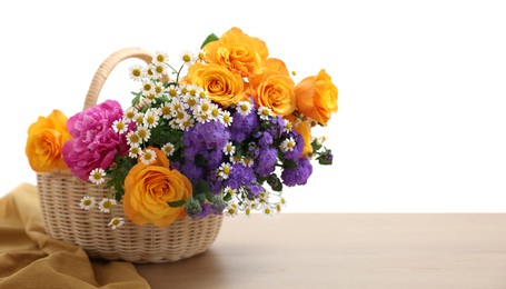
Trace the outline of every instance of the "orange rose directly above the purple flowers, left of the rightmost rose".
<path fill-rule="evenodd" d="M 288 116 L 295 110 L 294 80 L 279 71 L 267 70 L 252 78 L 254 98 L 258 107 L 267 107 L 278 116 Z"/>

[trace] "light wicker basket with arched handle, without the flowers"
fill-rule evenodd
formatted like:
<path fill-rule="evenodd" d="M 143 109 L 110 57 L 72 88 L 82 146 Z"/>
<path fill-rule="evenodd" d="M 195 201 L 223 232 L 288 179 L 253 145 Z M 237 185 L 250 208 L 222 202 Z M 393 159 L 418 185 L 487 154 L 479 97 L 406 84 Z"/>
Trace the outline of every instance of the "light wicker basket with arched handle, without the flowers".
<path fill-rule="evenodd" d="M 112 69 L 127 58 L 146 62 L 151 56 L 138 48 L 122 49 L 110 56 L 97 70 L 88 91 L 85 109 L 97 103 L 98 94 Z M 54 239 L 75 243 L 92 258 L 131 262 L 177 261 L 206 251 L 216 240 L 222 216 L 185 218 L 167 228 L 138 226 L 127 221 L 111 230 L 111 215 L 79 208 L 86 195 L 96 199 L 110 197 L 103 186 L 83 182 L 70 171 L 37 173 L 37 187 L 46 230 Z M 122 206 L 115 206 L 115 217 L 123 217 Z"/>

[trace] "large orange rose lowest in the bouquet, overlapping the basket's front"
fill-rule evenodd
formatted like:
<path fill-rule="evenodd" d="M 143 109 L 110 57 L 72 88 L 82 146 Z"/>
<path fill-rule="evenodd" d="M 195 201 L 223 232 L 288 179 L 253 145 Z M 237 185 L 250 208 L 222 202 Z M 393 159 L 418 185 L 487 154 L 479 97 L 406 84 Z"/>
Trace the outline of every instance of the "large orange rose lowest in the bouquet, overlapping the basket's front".
<path fill-rule="evenodd" d="M 186 216 L 185 206 L 172 208 L 168 202 L 188 200 L 191 182 L 178 170 L 169 168 L 166 155 L 156 148 L 155 163 L 138 162 L 125 179 L 125 216 L 137 225 L 167 227 Z"/>

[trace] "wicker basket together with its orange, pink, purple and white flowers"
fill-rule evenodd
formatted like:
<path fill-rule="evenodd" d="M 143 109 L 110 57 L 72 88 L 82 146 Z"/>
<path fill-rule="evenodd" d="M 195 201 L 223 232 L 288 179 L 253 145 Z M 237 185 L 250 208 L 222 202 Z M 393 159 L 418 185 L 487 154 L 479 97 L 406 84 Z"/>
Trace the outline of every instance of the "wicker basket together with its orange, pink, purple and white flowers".
<path fill-rule="evenodd" d="M 130 57 L 147 62 L 130 68 L 139 82 L 131 107 L 96 104 L 110 70 Z M 30 126 L 26 152 L 53 237 L 107 259 L 179 260 L 212 243 L 222 215 L 280 212 L 284 187 L 305 185 L 311 160 L 333 162 L 325 138 L 311 137 L 337 111 L 325 70 L 295 84 L 265 42 L 238 28 L 210 34 L 178 66 L 169 59 L 118 51 L 83 111 L 67 119 L 54 110 Z"/>

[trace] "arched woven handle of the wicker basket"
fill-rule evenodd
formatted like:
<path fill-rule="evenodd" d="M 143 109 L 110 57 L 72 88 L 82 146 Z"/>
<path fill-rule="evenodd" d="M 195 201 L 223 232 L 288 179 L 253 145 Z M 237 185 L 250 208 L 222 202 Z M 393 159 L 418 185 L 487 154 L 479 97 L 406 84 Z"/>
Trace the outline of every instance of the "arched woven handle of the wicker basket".
<path fill-rule="evenodd" d="M 97 104 L 100 90 L 112 69 L 115 69 L 119 62 L 129 58 L 138 58 L 146 61 L 146 63 L 150 63 L 152 59 L 151 53 L 141 48 L 123 48 L 112 53 L 100 64 L 97 72 L 95 72 L 93 80 L 91 80 L 90 88 L 88 89 L 88 94 L 86 94 L 83 110 Z"/>

